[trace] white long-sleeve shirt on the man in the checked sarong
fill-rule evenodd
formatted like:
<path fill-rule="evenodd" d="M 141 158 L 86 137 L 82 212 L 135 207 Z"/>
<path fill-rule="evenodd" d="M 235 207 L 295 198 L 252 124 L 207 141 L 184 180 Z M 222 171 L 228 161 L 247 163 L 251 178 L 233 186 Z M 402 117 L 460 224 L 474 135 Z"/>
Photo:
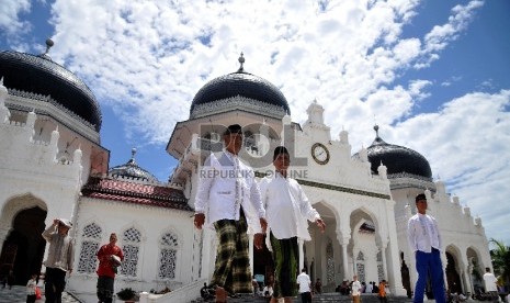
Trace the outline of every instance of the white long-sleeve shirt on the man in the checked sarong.
<path fill-rule="evenodd" d="M 205 214 L 206 225 L 219 220 L 239 220 L 242 205 L 249 233 L 260 233 L 260 217 L 265 211 L 253 170 L 236 155 L 227 152 L 211 154 L 199 176 L 195 212 Z"/>

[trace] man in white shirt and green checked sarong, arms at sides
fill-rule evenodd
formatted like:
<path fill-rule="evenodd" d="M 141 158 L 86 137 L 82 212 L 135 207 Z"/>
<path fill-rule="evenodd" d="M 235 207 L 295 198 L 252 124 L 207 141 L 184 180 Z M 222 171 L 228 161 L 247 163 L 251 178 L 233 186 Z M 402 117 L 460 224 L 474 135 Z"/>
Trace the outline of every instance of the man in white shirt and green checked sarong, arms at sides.
<path fill-rule="evenodd" d="M 194 216 L 196 228 L 206 224 L 216 231 L 218 246 L 211 285 L 216 288 L 217 302 L 226 302 L 227 293 L 253 293 L 248 225 L 256 233 L 253 245 L 258 249 L 262 248 L 267 227 L 254 172 L 238 157 L 241 126 L 228 126 L 223 139 L 224 150 L 211 154 L 200 171 Z"/>

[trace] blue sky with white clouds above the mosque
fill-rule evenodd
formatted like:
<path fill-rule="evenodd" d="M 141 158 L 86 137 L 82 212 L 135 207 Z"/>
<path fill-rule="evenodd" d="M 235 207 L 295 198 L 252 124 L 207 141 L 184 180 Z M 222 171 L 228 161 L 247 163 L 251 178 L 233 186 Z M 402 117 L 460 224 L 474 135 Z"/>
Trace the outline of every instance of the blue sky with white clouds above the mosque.
<path fill-rule="evenodd" d="M 510 245 L 508 0 L 2 0 L 0 49 L 52 59 L 83 79 L 103 114 L 110 167 L 167 181 L 165 150 L 207 81 L 238 69 L 281 89 L 292 120 L 314 101 L 352 153 L 374 124 Z"/>

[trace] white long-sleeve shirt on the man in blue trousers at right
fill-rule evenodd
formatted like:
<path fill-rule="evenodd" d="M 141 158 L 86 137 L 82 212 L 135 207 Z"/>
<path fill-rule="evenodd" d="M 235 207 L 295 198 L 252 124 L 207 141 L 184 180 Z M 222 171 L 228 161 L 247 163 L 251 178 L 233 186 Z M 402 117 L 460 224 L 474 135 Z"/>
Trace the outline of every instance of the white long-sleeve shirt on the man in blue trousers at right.
<path fill-rule="evenodd" d="M 438 222 L 428 214 L 416 214 L 407 224 L 407 238 L 411 251 L 431 252 L 432 247 L 441 250 L 441 235 Z"/>

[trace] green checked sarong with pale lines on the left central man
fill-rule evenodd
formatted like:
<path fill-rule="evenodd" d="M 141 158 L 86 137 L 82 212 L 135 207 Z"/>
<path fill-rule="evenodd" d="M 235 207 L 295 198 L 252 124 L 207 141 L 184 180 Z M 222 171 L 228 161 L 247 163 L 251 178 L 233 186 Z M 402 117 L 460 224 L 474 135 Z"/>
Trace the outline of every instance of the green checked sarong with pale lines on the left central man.
<path fill-rule="evenodd" d="M 239 221 L 219 220 L 214 228 L 218 248 L 211 284 L 223 287 L 229 293 L 253 293 L 245 216 Z"/>

